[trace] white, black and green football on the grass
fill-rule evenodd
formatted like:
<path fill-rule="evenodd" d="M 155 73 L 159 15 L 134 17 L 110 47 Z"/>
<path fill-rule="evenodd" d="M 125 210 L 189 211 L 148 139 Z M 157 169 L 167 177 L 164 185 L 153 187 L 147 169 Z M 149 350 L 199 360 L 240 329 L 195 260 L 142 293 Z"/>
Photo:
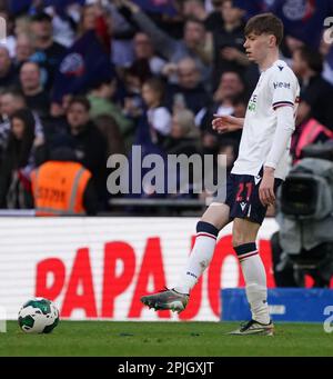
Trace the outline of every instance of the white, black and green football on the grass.
<path fill-rule="evenodd" d="M 49 333 L 59 323 L 59 311 L 52 301 L 34 298 L 23 303 L 18 321 L 27 333 Z"/>

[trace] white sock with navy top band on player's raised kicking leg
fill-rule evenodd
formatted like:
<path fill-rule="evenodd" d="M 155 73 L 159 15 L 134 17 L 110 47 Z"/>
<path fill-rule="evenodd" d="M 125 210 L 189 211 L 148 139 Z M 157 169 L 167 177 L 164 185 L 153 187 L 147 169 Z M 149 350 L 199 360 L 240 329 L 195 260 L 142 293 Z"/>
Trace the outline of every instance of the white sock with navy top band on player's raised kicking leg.
<path fill-rule="evenodd" d="M 181 270 L 178 283 L 174 287 L 175 291 L 190 293 L 196 285 L 212 260 L 218 233 L 219 230 L 214 226 L 203 221 L 198 222 L 195 243 L 185 267 Z"/>

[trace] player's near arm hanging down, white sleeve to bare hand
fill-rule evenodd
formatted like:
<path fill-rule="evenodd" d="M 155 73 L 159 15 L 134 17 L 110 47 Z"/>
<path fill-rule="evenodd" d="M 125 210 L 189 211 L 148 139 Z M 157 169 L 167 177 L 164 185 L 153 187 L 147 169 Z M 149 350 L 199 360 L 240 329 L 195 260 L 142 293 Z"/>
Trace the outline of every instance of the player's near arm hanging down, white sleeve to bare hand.
<path fill-rule="evenodd" d="M 278 80 L 272 82 L 273 109 L 276 112 L 276 129 L 272 148 L 264 163 L 264 172 L 259 189 L 259 197 L 264 206 L 273 205 L 274 195 L 274 171 L 283 157 L 290 138 L 295 129 L 294 101 L 296 82 L 287 74 L 280 73 Z"/>

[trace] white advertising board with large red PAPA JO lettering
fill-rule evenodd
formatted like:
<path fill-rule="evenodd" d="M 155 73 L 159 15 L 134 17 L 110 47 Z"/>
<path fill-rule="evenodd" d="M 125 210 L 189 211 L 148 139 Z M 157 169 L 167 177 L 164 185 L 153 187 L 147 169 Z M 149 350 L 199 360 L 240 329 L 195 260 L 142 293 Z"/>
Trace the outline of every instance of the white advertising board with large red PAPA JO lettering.
<path fill-rule="evenodd" d="M 31 297 L 53 300 L 65 319 L 220 320 L 220 289 L 243 287 L 231 226 L 180 315 L 147 309 L 140 297 L 175 283 L 198 218 L 0 218 L 0 307 L 16 319 Z M 266 219 L 259 249 L 274 287 Z"/>

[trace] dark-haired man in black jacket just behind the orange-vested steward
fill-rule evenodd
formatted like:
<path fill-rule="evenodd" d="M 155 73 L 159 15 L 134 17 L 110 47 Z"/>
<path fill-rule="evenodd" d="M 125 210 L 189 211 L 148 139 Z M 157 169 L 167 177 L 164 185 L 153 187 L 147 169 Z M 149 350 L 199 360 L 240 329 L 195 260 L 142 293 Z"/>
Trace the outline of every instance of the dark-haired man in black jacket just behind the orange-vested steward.
<path fill-rule="evenodd" d="M 107 142 L 91 121 L 90 103 L 84 97 L 73 97 L 67 110 L 69 137 L 78 161 L 92 173 L 101 209 L 107 207 Z"/>

